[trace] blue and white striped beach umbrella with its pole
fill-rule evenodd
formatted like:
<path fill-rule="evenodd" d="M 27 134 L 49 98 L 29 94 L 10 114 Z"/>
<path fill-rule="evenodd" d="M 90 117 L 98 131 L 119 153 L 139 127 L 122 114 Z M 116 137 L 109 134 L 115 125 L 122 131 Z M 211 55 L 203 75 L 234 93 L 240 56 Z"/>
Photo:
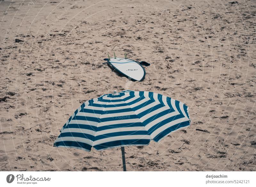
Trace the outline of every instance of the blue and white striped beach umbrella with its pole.
<path fill-rule="evenodd" d="M 84 102 L 62 127 L 54 146 L 88 152 L 92 147 L 121 147 L 126 171 L 124 146 L 160 142 L 189 124 L 188 107 L 175 99 L 148 91 L 114 91 Z"/>

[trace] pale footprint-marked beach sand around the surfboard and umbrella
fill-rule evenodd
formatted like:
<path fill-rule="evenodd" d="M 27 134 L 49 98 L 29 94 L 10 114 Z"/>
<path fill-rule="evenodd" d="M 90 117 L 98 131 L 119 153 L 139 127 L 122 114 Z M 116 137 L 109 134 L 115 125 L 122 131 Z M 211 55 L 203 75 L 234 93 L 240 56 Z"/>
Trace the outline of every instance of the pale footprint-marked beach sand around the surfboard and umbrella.
<path fill-rule="evenodd" d="M 86 100 L 146 90 L 189 107 L 191 126 L 126 147 L 129 171 L 255 171 L 256 2 L 4 0 L 1 171 L 122 171 L 121 149 L 53 147 Z M 147 61 L 132 82 L 102 65 Z"/>

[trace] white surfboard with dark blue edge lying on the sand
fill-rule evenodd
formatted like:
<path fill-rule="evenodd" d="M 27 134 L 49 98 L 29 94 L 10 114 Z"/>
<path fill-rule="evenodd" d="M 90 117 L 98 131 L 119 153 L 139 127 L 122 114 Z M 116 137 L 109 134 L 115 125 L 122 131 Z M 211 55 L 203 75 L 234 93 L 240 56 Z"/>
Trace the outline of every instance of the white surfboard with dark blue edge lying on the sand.
<path fill-rule="evenodd" d="M 142 81 L 145 78 L 145 69 L 136 61 L 128 58 L 110 58 L 108 64 L 118 73 L 134 81 Z"/>

